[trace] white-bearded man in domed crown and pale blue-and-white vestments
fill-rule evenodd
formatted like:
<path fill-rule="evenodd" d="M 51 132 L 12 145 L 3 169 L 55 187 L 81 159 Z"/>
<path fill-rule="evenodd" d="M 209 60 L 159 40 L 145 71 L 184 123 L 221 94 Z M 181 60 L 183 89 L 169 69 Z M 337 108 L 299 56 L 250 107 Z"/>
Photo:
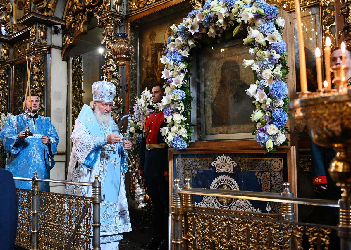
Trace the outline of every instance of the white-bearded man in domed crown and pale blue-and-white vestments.
<path fill-rule="evenodd" d="M 131 143 L 121 142 L 122 135 L 111 117 L 116 87 L 99 81 L 92 91 L 93 101 L 82 107 L 75 121 L 67 180 L 94 182 L 94 176 L 99 176 L 101 194 L 105 195 L 100 204 L 101 249 L 118 249 L 122 233 L 132 230 L 124 185 L 125 149 L 130 149 Z M 91 197 L 92 187 L 66 185 L 65 193 Z"/>

